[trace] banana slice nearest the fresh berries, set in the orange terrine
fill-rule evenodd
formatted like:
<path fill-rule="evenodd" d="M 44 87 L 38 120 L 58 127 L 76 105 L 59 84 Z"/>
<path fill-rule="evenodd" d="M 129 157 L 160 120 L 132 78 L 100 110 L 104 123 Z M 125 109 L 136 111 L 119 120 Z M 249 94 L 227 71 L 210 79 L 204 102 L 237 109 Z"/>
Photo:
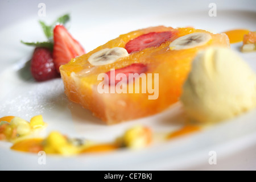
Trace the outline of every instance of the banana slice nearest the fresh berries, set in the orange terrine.
<path fill-rule="evenodd" d="M 114 48 L 105 48 L 101 49 L 100 51 L 93 53 L 88 61 L 90 64 L 97 66 L 97 65 L 105 65 L 111 64 L 117 61 L 120 57 L 129 56 L 129 53 L 126 51 L 125 48 L 122 47 L 114 47 Z"/>

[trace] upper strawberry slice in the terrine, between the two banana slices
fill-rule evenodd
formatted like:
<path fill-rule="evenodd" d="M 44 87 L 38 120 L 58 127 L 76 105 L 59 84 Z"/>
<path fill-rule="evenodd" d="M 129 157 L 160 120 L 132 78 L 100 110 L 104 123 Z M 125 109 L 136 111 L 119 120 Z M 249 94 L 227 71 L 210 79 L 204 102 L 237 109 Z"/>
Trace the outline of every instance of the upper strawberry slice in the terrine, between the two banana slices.
<path fill-rule="evenodd" d="M 148 34 L 143 34 L 126 43 L 125 49 L 128 53 L 131 53 L 141 51 L 148 47 L 158 47 L 173 35 L 172 32 L 150 32 Z"/>

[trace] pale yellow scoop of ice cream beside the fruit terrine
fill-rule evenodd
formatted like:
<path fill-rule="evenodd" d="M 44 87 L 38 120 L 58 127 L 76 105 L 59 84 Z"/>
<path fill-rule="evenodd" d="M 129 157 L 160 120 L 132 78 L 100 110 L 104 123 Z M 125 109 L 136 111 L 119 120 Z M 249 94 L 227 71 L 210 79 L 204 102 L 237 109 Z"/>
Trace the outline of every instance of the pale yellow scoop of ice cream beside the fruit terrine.
<path fill-rule="evenodd" d="M 256 106 L 256 75 L 236 52 L 205 49 L 193 60 L 181 102 L 194 121 L 233 118 Z"/>

